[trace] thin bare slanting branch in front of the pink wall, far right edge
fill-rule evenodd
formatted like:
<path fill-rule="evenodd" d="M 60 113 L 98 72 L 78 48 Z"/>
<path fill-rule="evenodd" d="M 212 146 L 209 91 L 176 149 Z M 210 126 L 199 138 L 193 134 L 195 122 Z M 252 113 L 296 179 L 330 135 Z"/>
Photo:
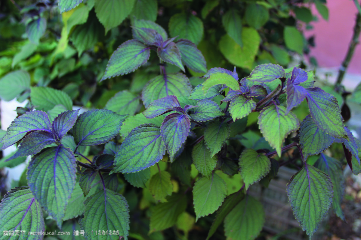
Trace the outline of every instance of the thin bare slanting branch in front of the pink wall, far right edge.
<path fill-rule="evenodd" d="M 356 0 L 354 0 L 354 1 L 355 1 L 355 3 L 357 3 Z M 358 3 L 357 3 L 357 5 L 358 5 Z M 360 7 L 360 5 L 358 5 L 358 7 Z M 337 85 L 340 85 L 342 80 L 343 80 L 343 77 L 344 77 L 344 75 L 346 73 L 348 64 L 350 63 L 351 58 L 353 56 L 353 53 L 355 52 L 355 47 L 359 42 L 358 39 L 360 37 L 360 32 L 361 32 L 361 13 L 358 12 L 357 17 L 356 17 L 355 27 L 353 27 L 353 36 L 352 36 L 350 45 L 348 46 L 346 57 L 343 60 L 342 65 L 341 65 L 341 67 L 339 69 L 339 73 L 338 73 L 338 76 L 337 76 L 337 81 L 335 83 L 335 87 Z"/>

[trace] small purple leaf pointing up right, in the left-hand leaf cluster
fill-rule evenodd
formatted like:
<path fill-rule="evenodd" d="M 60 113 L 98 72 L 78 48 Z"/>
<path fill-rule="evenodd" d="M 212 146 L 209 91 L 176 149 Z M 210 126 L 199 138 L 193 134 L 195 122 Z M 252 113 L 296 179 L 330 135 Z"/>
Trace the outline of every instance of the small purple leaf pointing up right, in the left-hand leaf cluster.
<path fill-rule="evenodd" d="M 74 126 L 79 110 L 70 110 L 60 113 L 52 122 L 51 130 L 57 139 L 61 139 Z"/>

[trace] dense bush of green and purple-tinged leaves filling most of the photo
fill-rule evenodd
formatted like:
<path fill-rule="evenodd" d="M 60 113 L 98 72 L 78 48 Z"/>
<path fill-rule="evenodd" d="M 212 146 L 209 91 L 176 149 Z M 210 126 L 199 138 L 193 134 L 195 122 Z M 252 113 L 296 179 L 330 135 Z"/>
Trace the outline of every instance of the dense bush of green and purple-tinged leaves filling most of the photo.
<path fill-rule="evenodd" d="M 0 203 L 0 229 L 212 239 L 224 238 L 224 222 L 227 239 L 255 239 L 265 214 L 248 190 L 267 187 L 283 165 L 299 168 L 287 193 L 306 234 L 331 205 L 343 218 L 343 162 L 323 151 L 342 143 L 358 174 L 358 141 L 312 71 L 281 66 L 290 62 L 286 49 L 308 51 L 296 28 L 296 19 L 312 20 L 308 8 L 292 1 L 58 4 L 62 27 L 53 3 L 23 8 L 26 28 L 8 37 L 25 31 L 28 40 L 1 52 L 1 99 L 30 102 L 3 133 L 2 149 L 19 145 L 0 167 L 32 158 Z M 327 18 L 325 5 L 316 6 Z M 19 13 L 7 11 L 6 27 L 21 26 L 9 20 Z M 200 236 L 189 233 L 195 226 Z"/>

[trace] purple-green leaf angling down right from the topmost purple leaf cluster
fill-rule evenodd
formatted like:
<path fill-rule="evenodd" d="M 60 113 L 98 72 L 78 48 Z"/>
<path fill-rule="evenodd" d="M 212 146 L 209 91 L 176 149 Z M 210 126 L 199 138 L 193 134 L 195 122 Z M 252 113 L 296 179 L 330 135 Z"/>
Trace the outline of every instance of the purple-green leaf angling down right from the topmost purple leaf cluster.
<path fill-rule="evenodd" d="M 207 72 L 207 63 L 197 46 L 186 39 L 179 39 L 175 43 L 181 52 L 182 61 L 188 68 L 195 72 Z"/>

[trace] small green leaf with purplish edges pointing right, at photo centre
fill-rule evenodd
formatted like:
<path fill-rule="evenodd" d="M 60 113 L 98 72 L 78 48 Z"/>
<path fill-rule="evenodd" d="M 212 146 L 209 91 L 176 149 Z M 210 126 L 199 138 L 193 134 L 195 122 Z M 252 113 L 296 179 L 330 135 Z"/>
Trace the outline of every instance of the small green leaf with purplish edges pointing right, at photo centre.
<path fill-rule="evenodd" d="M 194 113 L 190 115 L 195 121 L 205 122 L 224 115 L 215 101 L 208 99 L 200 100 L 197 105 L 198 107 L 194 109 Z"/>

